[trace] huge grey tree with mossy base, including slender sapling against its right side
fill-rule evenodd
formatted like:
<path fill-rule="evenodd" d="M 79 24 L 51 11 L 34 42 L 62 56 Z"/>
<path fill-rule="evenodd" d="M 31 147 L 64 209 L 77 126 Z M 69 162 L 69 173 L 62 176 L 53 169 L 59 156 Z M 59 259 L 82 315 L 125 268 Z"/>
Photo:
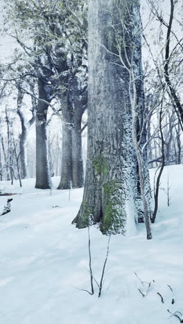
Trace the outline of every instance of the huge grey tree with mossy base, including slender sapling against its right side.
<path fill-rule="evenodd" d="M 79 228 L 92 217 L 103 233 L 125 233 L 128 217 L 132 215 L 138 222 L 142 209 L 145 213 L 143 200 L 150 194 L 146 154 L 139 158 L 144 159 L 143 165 L 138 165 L 139 151 L 133 141 L 134 132 L 135 141 L 137 134 L 141 136 L 139 145 L 146 141 L 141 127 L 144 96 L 139 26 L 139 1 L 89 1 L 87 172 L 82 205 L 73 219 Z M 130 73 L 128 60 L 132 60 Z M 135 107 L 131 87 L 135 87 Z M 146 192 L 139 186 L 139 171 L 143 172 Z M 145 207 L 150 239 L 147 200 Z"/>

